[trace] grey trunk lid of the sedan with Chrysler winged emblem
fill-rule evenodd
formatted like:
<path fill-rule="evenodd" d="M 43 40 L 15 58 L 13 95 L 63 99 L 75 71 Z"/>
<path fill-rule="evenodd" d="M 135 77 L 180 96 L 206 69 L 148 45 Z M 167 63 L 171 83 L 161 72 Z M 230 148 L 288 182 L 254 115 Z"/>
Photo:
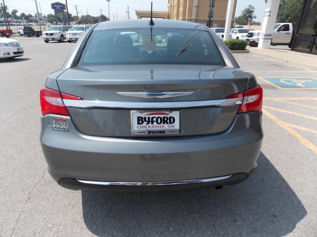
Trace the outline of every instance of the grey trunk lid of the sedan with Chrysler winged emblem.
<path fill-rule="evenodd" d="M 74 103 L 64 100 L 77 129 L 87 135 L 111 137 L 223 132 L 239 109 L 239 104 L 227 104 L 225 98 L 244 91 L 247 82 L 241 69 L 210 65 L 75 67 L 57 78 L 61 92 L 83 99 Z M 157 117 L 157 112 L 167 112 L 175 116 L 179 127 L 167 133 L 136 133 L 137 118 L 131 119 L 139 112 L 155 112 Z"/>

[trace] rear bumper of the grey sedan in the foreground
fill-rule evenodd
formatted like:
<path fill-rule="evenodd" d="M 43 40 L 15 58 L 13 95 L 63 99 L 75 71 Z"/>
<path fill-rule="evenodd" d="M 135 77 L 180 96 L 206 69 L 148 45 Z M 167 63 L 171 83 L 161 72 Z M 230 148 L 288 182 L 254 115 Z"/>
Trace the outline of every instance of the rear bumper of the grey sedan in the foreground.
<path fill-rule="evenodd" d="M 53 130 L 56 117 L 66 118 L 68 132 Z M 69 189 L 140 188 L 77 180 L 156 183 L 230 175 L 211 182 L 145 185 L 141 189 L 219 186 L 243 181 L 257 166 L 263 138 L 261 119 L 258 112 L 237 115 L 226 132 L 214 135 L 110 138 L 81 134 L 70 118 L 47 115 L 42 118 L 41 144 L 53 179 Z"/>

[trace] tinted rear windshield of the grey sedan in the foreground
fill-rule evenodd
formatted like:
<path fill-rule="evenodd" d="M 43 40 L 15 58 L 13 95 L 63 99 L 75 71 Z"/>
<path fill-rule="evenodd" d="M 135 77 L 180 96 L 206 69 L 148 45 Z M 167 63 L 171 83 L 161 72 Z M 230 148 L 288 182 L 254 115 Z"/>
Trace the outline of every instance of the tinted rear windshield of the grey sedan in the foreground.
<path fill-rule="evenodd" d="M 225 65 L 208 32 L 164 28 L 92 32 L 78 66 L 95 64 Z"/>

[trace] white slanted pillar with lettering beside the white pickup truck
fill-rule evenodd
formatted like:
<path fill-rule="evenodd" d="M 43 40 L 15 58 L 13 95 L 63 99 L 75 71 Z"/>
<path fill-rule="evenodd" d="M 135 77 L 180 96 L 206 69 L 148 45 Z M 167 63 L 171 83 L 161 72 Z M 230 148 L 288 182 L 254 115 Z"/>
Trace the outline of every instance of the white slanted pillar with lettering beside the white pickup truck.
<path fill-rule="evenodd" d="M 267 8 L 264 12 L 264 19 L 258 48 L 269 48 L 271 45 L 274 24 L 276 22 L 277 11 L 280 0 L 267 0 Z"/>

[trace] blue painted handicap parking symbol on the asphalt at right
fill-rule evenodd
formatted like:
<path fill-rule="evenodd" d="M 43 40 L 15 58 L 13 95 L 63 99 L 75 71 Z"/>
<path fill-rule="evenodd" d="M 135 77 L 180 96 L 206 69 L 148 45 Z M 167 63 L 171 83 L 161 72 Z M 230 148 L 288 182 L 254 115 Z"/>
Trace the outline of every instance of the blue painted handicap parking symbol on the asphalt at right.
<path fill-rule="evenodd" d="M 265 77 L 262 79 L 279 89 L 317 89 L 316 78 Z"/>

